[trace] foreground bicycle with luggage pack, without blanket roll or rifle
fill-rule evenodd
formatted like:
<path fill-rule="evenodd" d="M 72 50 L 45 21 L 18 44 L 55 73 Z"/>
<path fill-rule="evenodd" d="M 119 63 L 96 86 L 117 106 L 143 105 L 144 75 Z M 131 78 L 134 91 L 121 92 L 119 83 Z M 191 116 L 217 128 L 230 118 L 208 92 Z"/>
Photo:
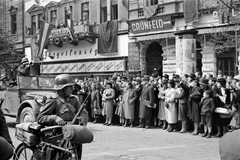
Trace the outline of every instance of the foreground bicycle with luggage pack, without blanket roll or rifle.
<path fill-rule="evenodd" d="M 63 139 L 62 126 L 43 128 L 25 123 L 16 127 L 16 137 L 22 143 L 16 148 L 13 160 L 81 159 L 82 145 Z"/>

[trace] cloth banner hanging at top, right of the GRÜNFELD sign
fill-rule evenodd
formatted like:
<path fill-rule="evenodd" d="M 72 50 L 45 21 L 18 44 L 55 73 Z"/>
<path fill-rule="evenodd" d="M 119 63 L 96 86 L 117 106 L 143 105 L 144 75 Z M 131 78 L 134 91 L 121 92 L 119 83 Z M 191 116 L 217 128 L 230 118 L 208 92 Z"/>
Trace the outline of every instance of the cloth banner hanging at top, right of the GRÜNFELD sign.
<path fill-rule="evenodd" d="M 198 0 L 184 0 L 183 15 L 186 23 L 197 21 L 198 20 Z"/>

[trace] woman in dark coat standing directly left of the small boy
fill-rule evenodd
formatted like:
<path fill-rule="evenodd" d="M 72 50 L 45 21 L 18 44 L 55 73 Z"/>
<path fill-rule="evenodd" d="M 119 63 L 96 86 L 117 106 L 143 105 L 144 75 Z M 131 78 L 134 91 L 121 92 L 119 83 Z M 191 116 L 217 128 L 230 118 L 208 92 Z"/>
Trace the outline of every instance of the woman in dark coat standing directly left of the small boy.
<path fill-rule="evenodd" d="M 194 131 L 192 132 L 193 135 L 198 134 L 198 126 L 200 123 L 200 106 L 199 103 L 202 98 L 202 91 L 200 87 L 197 86 L 197 79 L 193 79 L 190 82 L 189 88 L 189 110 L 188 114 L 190 119 L 194 123 Z"/>

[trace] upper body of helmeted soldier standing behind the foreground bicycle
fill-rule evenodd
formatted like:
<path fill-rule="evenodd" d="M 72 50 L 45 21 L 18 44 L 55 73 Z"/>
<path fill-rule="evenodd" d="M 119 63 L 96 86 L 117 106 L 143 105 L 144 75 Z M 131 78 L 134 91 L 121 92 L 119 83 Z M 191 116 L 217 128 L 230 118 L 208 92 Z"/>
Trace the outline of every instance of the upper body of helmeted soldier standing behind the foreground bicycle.
<path fill-rule="evenodd" d="M 44 106 L 40 108 L 38 122 L 45 125 L 65 125 L 67 121 L 71 121 L 78 109 L 80 103 L 77 98 L 72 95 L 72 87 L 74 82 L 70 75 L 60 74 L 55 78 L 54 89 L 56 97 L 47 100 Z M 87 125 L 88 113 L 84 109 L 80 115 L 80 124 Z"/>

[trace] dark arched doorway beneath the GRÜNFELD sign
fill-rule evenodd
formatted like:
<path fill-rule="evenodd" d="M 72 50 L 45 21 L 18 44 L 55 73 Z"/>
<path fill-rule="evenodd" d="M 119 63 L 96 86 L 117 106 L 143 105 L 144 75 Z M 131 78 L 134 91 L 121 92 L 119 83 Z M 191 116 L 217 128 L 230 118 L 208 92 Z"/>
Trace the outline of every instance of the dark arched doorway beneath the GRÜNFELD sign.
<path fill-rule="evenodd" d="M 159 43 L 151 43 L 146 51 L 146 62 L 147 62 L 147 74 L 151 75 L 156 73 L 157 75 L 162 76 L 162 47 Z"/>

